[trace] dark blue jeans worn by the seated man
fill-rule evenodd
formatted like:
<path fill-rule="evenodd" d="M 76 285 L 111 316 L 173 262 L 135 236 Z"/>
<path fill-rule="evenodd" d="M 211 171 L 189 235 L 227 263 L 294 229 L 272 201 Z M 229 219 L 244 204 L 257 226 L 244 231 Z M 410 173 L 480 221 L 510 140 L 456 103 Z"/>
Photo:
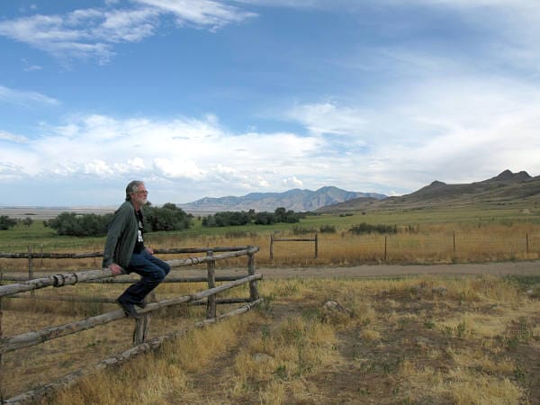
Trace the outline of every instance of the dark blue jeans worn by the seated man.
<path fill-rule="evenodd" d="M 133 253 L 127 270 L 128 273 L 137 273 L 141 278 L 139 282 L 130 285 L 118 299 L 121 302 L 138 304 L 142 303 L 148 293 L 165 279 L 171 267 L 143 250 L 140 253 Z"/>

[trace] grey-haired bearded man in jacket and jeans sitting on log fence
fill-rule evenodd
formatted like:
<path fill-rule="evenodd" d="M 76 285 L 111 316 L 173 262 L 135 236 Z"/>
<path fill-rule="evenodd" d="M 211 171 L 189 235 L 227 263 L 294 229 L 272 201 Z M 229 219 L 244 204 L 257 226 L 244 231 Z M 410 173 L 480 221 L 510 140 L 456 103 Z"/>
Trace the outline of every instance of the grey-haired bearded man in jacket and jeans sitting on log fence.
<path fill-rule="evenodd" d="M 103 267 L 110 267 L 112 275 L 137 273 L 141 276 L 139 282 L 130 285 L 116 300 L 131 318 L 140 317 L 134 305 L 144 308 L 145 297 L 170 271 L 170 266 L 144 246 L 142 207 L 147 198 L 143 182 L 136 180 L 128 184 L 126 201 L 114 212 L 103 251 Z"/>

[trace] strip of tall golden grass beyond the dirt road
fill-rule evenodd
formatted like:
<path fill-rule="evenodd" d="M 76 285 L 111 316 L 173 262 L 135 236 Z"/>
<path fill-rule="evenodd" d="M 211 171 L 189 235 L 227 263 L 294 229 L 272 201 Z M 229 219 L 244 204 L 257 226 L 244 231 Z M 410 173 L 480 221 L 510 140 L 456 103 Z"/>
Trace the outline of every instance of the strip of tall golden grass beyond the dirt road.
<path fill-rule="evenodd" d="M 319 255 L 315 258 L 313 242 L 275 242 L 274 258 L 270 259 L 270 234 L 238 232 L 239 237 L 226 235 L 179 236 L 148 234 L 148 245 L 155 248 L 257 246 L 257 266 L 352 266 L 365 263 L 467 263 L 501 260 L 535 260 L 540 254 L 540 225 L 500 221 L 477 223 L 467 221 L 422 224 L 399 227 L 392 235 L 377 233 L 355 235 L 348 228 L 335 233 L 319 233 Z M 244 236 L 245 235 L 245 236 Z M 313 234 L 302 235 L 312 238 Z M 292 230 L 283 230 L 280 238 L 298 238 Z M 102 246 L 74 247 L 79 253 L 93 252 Z M 64 253 L 69 248 L 61 249 Z M 55 250 L 61 253 L 60 250 Z M 36 250 L 35 255 L 39 256 Z M 190 255 L 167 255 L 166 258 Z M 245 266 L 245 258 L 229 259 L 224 266 Z M 101 266 L 101 258 L 41 259 L 34 257 L 34 271 L 77 269 Z M 6 272 L 28 272 L 28 262 L 23 259 L 0 258 L 0 268 Z"/>

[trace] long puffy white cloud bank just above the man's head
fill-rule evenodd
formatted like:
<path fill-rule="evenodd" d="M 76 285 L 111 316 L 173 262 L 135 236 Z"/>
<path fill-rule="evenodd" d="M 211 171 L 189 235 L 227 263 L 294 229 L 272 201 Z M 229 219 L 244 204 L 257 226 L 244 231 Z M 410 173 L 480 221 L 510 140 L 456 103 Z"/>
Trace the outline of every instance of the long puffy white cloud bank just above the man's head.
<path fill-rule="evenodd" d="M 306 161 L 323 144 L 318 137 L 287 132 L 229 133 L 211 115 L 165 121 L 89 115 L 43 127 L 40 137 L 29 144 L 17 147 L 14 143 L 9 152 L 0 152 L 0 162 L 9 161 L 28 176 L 112 179 L 137 175 L 204 181 L 224 188 L 236 184 L 251 192 L 282 187 L 281 179 L 292 166 L 301 175 L 311 171 Z M 295 178 L 288 181 L 298 184 Z"/>

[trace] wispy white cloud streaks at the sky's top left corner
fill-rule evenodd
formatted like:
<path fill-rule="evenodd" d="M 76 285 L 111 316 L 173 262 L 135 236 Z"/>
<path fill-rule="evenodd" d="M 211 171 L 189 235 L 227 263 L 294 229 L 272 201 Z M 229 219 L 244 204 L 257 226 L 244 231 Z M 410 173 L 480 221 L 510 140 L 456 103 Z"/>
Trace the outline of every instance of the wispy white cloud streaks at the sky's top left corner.
<path fill-rule="evenodd" d="M 162 19 L 174 15 L 211 31 L 239 23 L 256 14 L 211 0 L 136 0 L 139 8 L 77 9 L 67 14 L 35 14 L 0 22 L 0 35 L 27 43 L 57 58 L 97 58 L 102 64 L 114 56 L 113 45 L 139 42 L 155 35 Z"/>

